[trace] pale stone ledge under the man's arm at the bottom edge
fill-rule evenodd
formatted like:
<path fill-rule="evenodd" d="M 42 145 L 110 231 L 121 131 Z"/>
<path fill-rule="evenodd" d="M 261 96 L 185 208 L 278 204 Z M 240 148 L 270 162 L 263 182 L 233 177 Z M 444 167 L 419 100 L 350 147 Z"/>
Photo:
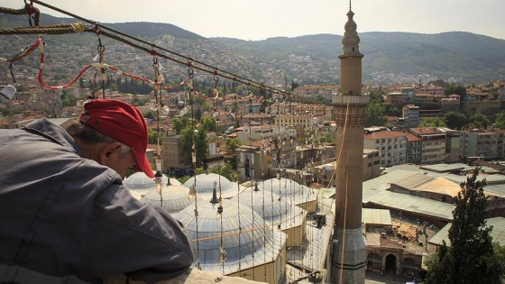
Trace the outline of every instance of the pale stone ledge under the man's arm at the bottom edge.
<path fill-rule="evenodd" d="M 105 279 L 104 284 L 142 284 L 143 281 L 135 281 L 127 279 L 124 275 L 116 275 Z M 254 283 L 264 283 L 256 282 L 248 279 L 243 279 L 239 277 L 223 276 L 217 273 L 205 272 L 197 269 L 189 269 L 182 273 L 176 278 L 167 279 L 158 284 L 197 284 L 197 283 L 219 283 L 219 284 L 254 284 Z"/>

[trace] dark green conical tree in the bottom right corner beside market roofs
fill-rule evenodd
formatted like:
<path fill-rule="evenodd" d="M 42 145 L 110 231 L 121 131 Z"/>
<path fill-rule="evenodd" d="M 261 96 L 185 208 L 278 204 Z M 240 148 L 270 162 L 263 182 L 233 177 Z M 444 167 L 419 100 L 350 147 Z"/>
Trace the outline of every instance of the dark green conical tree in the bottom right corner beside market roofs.
<path fill-rule="evenodd" d="M 500 283 L 505 276 L 504 249 L 492 243 L 492 227 L 484 219 L 486 180 L 477 180 L 480 170 L 473 169 L 454 197 L 450 246 L 444 243 L 427 261 L 426 283 Z"/>

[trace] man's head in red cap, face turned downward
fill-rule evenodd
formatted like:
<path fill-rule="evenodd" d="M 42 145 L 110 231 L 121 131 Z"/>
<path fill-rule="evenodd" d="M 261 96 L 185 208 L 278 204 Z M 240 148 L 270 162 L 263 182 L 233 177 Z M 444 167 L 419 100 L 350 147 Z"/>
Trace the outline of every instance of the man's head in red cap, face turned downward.
<path fill-rule="evenodd" d="M 111 139 L 110 142 L 92 142 L 89 138 L 85 139 L 82 135 L 69 132 L 81 142 L 96 144 L 91 159 L 115 169 L 123 178 L 130 166 L 154 178 L 151 164 L 145 156 L 147 125 L 141 112 L 133 105 L 114 99 L 94 99 L 84 105 L 84 111 L 78 121 L 86 125 L 84 128 L 95 130 Z"/>

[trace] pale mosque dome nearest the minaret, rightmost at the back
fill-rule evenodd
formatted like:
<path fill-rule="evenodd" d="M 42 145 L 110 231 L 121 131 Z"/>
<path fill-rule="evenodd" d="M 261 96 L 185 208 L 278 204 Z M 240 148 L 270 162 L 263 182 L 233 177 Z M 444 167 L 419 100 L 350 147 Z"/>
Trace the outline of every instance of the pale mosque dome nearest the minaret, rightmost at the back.
<path fill-rule="evenodd" d="M 258 188 L 272 191 L 280 195 L 281 198 L 286 198 L 288 202 L 295 205 L 300 205 L 307 202 L 314 202 L 317 200 L 317 189 L 308 188 L 300 185 L 292 179 L 267 179 L 258 183 Z"/>

